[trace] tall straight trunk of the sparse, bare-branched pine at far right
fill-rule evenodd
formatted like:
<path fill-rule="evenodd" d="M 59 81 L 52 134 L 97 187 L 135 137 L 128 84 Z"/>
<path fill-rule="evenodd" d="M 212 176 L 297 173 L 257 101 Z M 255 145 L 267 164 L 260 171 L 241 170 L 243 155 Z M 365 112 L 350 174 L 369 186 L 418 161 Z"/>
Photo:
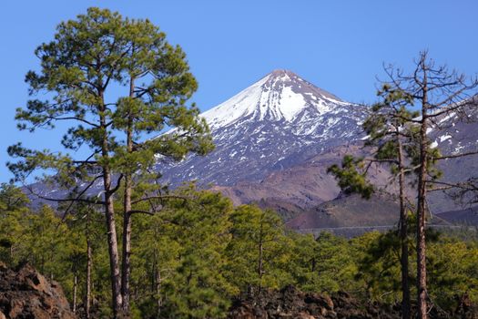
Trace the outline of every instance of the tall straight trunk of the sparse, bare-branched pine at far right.
<path fill-rule="evenodd" d="M 426 242 L 425 242 L 425 201 L 426 201 L 426 177 L 428 160 L 428 139 L 426 129 L 428 126 L 427 111 L 427 69 L 422 62 L 422 123 L 420 128 L 420 173 L 418 176 L 418 199 L 417 199 L 417 303 L 418 318 L 426 319 L 427 314 L 427 285 L 426 285 Z"/>

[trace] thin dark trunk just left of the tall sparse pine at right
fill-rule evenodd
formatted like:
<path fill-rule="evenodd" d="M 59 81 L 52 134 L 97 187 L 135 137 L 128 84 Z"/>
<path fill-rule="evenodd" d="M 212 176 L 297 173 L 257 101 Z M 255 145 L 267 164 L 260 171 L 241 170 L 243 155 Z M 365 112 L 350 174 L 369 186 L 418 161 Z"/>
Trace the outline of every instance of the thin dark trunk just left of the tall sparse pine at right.
<path fill-rule="evenodd" d="M 398 129 L 397 129 L 398 133 Z M 411 318 L 411 300 L 410 300 L 410 283 L 408 280 L 408 214 L 405 205 L 405 172 L 404 172 L 404 156 L 402 149 L 402 140 L 397 135 L 398 153 L 399 153 L 399 187 L 400 187 L 400 242 L 402 245 L 402 318 Z"/>

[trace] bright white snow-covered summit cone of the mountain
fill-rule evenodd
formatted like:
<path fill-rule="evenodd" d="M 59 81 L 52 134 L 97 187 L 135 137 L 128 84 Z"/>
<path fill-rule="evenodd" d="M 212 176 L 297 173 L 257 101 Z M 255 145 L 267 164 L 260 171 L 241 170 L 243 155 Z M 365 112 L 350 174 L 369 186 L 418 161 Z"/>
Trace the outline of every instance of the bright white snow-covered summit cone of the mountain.
<path fill-rule="evenodd" d="M 278 69 L 202 116 L 214 130 L 239 118 L 290 122 L 307 108 L 325 113 L 331 111 L 333 105 L 346 104 L 293 72 Z"/>

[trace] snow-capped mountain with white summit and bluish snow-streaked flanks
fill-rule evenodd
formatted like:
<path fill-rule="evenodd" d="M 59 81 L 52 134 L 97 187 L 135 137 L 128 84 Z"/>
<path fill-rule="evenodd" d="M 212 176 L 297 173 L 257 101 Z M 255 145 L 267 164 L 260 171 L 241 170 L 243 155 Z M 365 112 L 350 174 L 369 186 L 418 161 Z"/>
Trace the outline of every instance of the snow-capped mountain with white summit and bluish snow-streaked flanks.
<path fill-rule="evenodd" d="M 173 185 L 183 180 L 232 185 L 261 180 L 326 149 L 361 139 L 365 109 L 275 70 L 239 94 L 201 114 L 216 149 L 206 157 L 158 162 Z"/>

